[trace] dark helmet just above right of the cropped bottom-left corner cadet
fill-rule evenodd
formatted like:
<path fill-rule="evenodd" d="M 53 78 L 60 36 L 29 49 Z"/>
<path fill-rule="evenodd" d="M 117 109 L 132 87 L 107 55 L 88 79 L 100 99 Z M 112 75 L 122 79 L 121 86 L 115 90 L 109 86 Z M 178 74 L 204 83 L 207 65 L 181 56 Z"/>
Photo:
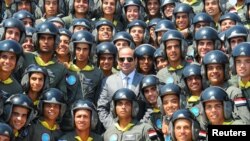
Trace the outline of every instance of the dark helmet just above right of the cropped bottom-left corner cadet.
<path fill-rule="evenodd" d="M 24 107 L 29 110 L 29 115 L 27 116 L 25 126 L 28 125 L 34 119 L 35 111 L 34 111 L 33 102 L 27 95 L 20 93 L 20 94 L 11 95 L 5 101 L 4 111 L 3 111 L 3 119 L 5 122 L 9 122 L 14 106 Z"/>

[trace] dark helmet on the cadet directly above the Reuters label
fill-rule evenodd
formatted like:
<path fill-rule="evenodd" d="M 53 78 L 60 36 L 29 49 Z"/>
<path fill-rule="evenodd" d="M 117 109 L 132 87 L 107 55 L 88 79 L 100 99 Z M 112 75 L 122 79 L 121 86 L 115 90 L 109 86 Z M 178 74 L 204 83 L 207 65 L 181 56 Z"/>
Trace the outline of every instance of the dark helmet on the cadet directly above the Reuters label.
<path fill-rule="evenodd" d="M 232 117 L 233 104 L 226 91 L 217 86 L 211 86 L 206 88 L 200 96 L 201 108 L 204 110 L 204 103 L 211 100 L 218 100 L 223 102 L 224 107 L 224 117 L 225 119 L 230 119 Z M 205 111 L 204 111 L 205 112 Z M 207 117 L 203 117 L 207 120 Z"/>

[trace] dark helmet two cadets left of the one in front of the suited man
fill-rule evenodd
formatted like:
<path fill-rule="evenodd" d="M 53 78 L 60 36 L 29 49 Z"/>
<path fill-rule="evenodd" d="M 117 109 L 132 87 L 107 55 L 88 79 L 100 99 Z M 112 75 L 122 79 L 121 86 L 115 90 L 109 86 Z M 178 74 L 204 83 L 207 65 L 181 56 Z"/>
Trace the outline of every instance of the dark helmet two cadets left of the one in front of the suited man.
<path fill-rule="evenodd" d="M 38 105 L 38 110 L 40 114 L 43 114 L 43 107 L 45 103 L 53 103 L 53 104 L 60 104 L 60 117 L 62 118 L 66 105 L 65 105 L 65 100 L 64 100 L 64 94 L 62 91 L 60 91 L 57 88 L 49 88 L 41 94 L 41 97 L 39 99 L 39 105 Z"/>

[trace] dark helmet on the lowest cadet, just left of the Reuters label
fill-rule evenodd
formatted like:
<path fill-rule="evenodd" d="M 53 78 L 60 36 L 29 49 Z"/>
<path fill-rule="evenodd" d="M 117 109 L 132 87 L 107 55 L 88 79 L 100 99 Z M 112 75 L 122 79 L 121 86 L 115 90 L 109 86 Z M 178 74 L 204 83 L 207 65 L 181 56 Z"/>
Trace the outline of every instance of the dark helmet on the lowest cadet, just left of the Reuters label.
<path fill-rule="evenodd" d="M 187 119 L 191 122 L 191 129 L 192 129 L 192 140 L 196 141 L 199 137 L 199 131 L 201 130 L 199 122 L 196 120 L 193 113 L 191 113 L 188 109 L 179 109 L 175 111 L 171 117 L 170 121 L 170 133 L 171 137 L 174 141 L 176 141 L 176 137 L 174 134 L 174 124 L 175 121 L 178 119 Z"/>

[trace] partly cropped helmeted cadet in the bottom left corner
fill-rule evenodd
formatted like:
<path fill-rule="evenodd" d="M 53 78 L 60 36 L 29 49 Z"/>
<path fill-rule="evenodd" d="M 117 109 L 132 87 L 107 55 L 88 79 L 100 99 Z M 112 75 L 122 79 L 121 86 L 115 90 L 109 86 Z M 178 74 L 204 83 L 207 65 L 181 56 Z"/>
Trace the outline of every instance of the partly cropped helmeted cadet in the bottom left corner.
<path fill-rule="evenodd" d="M 12 141 L 14 138 L 12 128 L 6 124 L 0 122 L 0 139 L 1 141 Z"/>

